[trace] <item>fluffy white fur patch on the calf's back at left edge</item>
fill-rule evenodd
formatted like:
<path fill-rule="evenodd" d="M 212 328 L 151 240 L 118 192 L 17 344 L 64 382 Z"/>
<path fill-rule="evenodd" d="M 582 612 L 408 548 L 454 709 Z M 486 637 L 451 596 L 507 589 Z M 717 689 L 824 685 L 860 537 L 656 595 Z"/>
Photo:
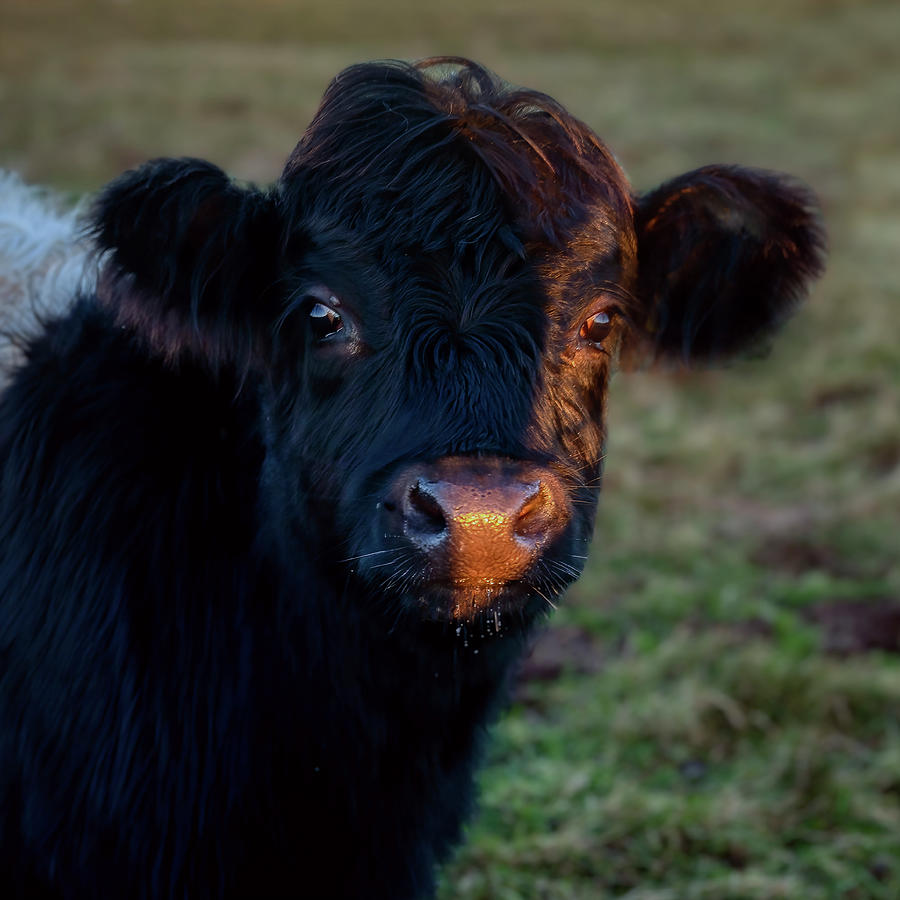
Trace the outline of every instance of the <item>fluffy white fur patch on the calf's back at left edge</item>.
<path fill-rule="evenodd" d="M 21 359 L 20 340 L 96 284 L 83 211 L 0 169 L 0 386 Z"/>

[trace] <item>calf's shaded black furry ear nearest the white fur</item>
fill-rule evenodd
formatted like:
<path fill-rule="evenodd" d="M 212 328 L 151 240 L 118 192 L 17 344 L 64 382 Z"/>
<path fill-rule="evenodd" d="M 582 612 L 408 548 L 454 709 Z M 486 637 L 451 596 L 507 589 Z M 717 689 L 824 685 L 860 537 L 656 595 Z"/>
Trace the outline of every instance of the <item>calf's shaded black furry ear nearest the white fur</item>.
<path fill-rule="evenodd" d="M 247 360 L 272 322 L 280 246 L 274 198 L 198 159 L 126 172 L 94 203 L 108 253 L 98 295 L 167 357 Z"/>

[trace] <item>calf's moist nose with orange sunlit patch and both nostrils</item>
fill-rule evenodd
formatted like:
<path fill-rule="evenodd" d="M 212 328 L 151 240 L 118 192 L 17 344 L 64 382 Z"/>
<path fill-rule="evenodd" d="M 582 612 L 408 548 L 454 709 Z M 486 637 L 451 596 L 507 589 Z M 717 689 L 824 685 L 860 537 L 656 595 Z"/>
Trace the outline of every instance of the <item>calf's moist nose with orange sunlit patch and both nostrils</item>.
<path fill-rule="evenodd" d="M 448 457 L 407 470 L 398 481 L 397 525 L 438 580 L 515 580 L 569 519 L 559 480 L 536 465 Z"/>

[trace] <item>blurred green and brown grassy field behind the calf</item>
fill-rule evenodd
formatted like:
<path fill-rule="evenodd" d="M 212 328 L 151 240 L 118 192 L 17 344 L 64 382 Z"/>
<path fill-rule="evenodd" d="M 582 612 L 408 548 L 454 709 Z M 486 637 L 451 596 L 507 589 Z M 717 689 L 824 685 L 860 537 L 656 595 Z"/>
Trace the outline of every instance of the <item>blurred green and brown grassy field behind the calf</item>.
<path fill-rule="evenodd" d="M 900 897 L 900 4 L 0 0 L 0 167 L 274 180 L 326 84 L 453 53 L 555 96 L 640 190 L 819 193 L 766 358 L 623 373 L 589 569 L 526 661 L 441 900 Z"/>

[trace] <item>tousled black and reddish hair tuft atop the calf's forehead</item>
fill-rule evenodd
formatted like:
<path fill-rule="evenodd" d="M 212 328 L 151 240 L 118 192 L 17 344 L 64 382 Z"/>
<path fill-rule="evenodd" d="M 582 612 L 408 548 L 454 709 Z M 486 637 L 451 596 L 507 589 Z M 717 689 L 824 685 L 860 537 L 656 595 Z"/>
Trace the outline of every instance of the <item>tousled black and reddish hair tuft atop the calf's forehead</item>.
<path fill-rule="evenodd" d="M 625 176 L 586 125 L 546 94 L 452 57 L 346 69 L 283 178 L 289 195 L 331 194 L 352 227 L 402 222 L 424 250 L 479 242 L 505 214 L 508 243 L 590 242 L 596 253 L 604 224 L 632 219 Z"/>

